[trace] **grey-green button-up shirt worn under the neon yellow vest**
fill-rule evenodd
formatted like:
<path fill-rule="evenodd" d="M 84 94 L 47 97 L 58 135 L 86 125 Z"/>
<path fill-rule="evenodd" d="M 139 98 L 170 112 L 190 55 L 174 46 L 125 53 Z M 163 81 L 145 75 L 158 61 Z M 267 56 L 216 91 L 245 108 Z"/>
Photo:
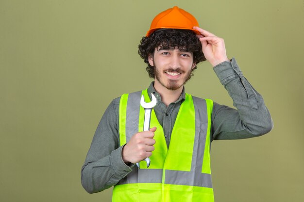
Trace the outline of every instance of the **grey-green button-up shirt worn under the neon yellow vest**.
<path fill-rule="evenodd" d="M 262 96 L 244 78 L 235 58 L 231 62 L 221 62 L 214 68 L 221 84 L 233 99 L 236 109 L 214 102 L 211 115 L 212 140 L 232 140 L 261 136 L 272 127 L 270 113 Z M 153 87 L 158 102 L 153 108 L 159 123 L 164 129 L 167 146 L 181 103 L 185 100 L 185 87 L 182 94 L 167 107 Z M 132 171 L 134 165 L 126 165 L 121 157 L 123 146 L 119 145 L 119 101 L 114 99 L 104 112 L 96 129 L 91 147 L 81 170 L 81 181 L 89 193 L 100 192 L 114 186 Z"/>

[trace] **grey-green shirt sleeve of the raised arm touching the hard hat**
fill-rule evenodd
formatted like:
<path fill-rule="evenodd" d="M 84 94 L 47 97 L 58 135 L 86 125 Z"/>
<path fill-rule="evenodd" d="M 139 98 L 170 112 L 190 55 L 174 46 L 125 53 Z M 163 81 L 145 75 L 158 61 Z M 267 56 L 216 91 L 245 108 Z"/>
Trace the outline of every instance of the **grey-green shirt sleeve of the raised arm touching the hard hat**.
<path fill-rule="evenodd" d="M 212 139 L 233 140 L 261 136 L 270 132 L 273 122 L 263 97 L 243 76 L 236 59 L 221 62 L 214 71 L 236 109 L 214 103 L 211 116 Z"/>

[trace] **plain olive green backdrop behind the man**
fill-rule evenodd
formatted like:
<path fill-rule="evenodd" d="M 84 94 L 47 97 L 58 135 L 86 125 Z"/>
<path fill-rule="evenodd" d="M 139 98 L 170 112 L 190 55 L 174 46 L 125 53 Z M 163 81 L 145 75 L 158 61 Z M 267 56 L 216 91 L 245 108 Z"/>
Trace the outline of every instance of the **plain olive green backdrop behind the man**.
<path fill-rule="evenodd" d="M 225 39 L 275 125 L 212 143 L 216 202 L 304 200 L 303 0 L 0 0 L 1 202 L 111 201 L 81 166 L 111 100 L 150 84 L 137 46 L 174 5 Z M 232 106 L 208 62 L 186 90 Z"/>

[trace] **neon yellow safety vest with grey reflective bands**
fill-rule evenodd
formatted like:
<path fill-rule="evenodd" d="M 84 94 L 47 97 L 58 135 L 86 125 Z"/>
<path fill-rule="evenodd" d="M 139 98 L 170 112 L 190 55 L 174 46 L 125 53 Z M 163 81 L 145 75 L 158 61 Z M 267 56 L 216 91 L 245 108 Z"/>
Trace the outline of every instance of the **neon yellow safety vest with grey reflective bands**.
<path fill-rule="evenodd" d="M 119 143 L 124 145 L 143 131 L 140 97 L 150 102 L 147 89 L 123 94 L 119 104 Z M 169 149 L 164 131 L 152 110 L 150 128 L 156 126 L 151 164 L 121 179 L 112 202 L 214 202 L 210 171 L 210 126 L 213 101 L 186 93 L 171 133 Z"/>

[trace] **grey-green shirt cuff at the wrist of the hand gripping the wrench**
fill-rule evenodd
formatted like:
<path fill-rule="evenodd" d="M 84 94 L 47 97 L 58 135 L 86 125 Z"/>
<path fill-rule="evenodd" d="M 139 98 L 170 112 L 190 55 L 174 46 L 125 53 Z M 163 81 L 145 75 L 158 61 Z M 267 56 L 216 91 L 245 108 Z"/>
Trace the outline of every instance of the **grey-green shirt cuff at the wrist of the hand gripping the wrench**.
<path fill-rule="evenodd" d="M 134 165 L 132 165 L 130 167 L 130 166 L 126 165 L 125 162 L 123 162 L 122 157 L 121 157 L 121 152 L 122 152 L 123 147 L 124 147 L 124 145 L 122 145 L 121 147 L 118 147 L 118 149 L 112 151 L 112 153 L 110 155 L 110 163 L 111 163 L 112 168 L 118 175 L 125 177 L 128 173 L 130 173 L 132 171 L 132 167 Z"/>

